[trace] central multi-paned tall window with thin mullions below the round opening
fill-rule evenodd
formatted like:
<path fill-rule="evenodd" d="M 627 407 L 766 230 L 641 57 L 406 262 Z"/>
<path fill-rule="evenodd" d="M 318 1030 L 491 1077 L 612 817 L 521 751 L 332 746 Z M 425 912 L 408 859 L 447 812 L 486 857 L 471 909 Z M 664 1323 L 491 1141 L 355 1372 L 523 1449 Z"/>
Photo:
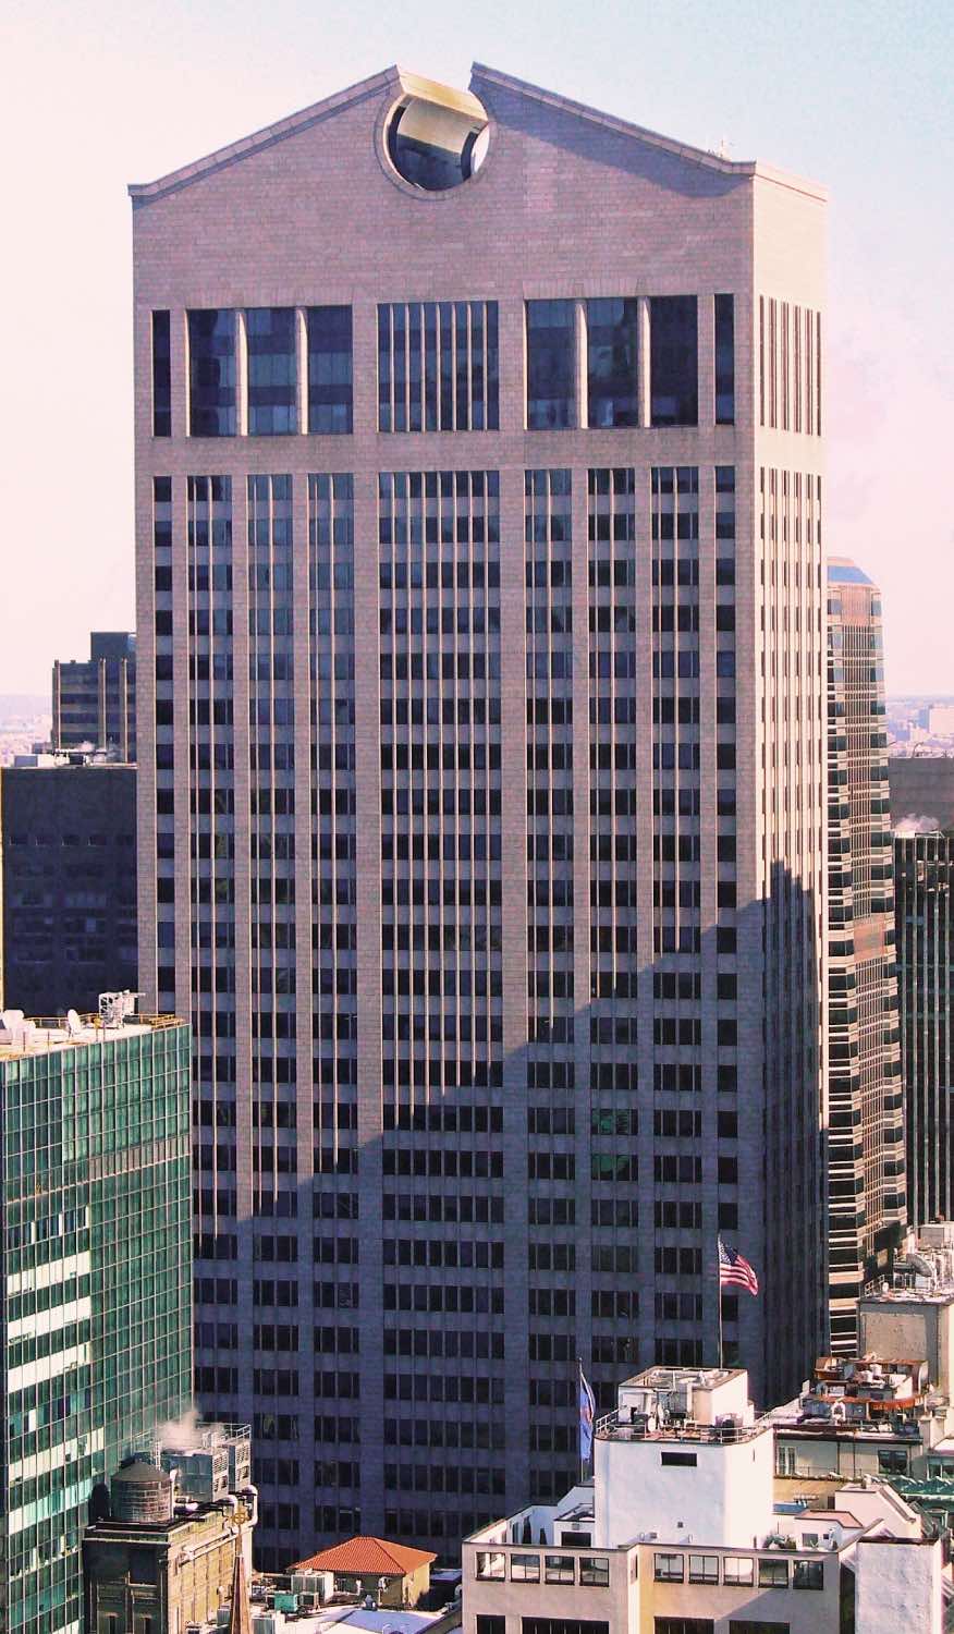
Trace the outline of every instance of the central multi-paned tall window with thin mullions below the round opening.
<path fill-rule="evenodd" d="M 495 431 L 497 301 L 377 307 L 377 430 Z"/>

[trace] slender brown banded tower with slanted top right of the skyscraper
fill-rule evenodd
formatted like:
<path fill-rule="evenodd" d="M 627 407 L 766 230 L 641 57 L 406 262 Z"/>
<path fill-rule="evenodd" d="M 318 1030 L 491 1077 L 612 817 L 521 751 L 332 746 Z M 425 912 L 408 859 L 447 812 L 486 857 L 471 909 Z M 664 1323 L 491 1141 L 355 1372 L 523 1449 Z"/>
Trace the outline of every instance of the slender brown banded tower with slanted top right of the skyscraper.
<path fill-rule="evenodd" d="M 894 856 L 880 593 L 828 559 L 828 1314 L 858 1353 L 858 1299 L 905 1219 Z"/>

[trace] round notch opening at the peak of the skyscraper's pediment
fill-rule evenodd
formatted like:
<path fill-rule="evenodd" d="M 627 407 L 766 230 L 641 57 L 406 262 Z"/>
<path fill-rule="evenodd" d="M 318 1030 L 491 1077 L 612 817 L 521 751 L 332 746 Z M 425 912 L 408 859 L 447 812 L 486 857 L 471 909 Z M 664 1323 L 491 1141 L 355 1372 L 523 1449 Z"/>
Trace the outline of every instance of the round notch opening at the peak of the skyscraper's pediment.
<path fill-rule="evenodd" d="M 470 92 L 456 92 L 413 74 L 387 116 L 384 145 L 399 176 L 423 193 L 446 193 L 477 175 L 487 155 L 488 124 Z"/>

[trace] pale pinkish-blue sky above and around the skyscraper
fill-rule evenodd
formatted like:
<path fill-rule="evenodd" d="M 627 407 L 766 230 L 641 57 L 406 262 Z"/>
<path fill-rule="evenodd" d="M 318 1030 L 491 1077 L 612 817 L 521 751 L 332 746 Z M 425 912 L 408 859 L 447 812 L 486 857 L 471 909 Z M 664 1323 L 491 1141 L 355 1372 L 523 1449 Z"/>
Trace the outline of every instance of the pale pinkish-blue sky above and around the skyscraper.
<path fill-rule="evenodd" d="M 3 15 L 0 693 L 46 691 L 90 629 L 132 627 L 126 183 L 392 62 L 466 85 L 472 60 L 827 183 L 828 549 L 882 587 L 889 688 L 954 693 L 949 0 L 7 0 Z"/>

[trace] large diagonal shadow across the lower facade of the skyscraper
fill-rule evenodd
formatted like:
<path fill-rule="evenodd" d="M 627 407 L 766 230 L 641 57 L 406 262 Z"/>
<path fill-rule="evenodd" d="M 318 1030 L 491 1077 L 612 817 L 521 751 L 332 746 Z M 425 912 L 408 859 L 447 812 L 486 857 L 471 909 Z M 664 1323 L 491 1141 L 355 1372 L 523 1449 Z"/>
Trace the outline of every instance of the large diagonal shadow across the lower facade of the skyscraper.
<path fill-rule="evenodd" d="M 199 1292 L 237 1278 L 237 1348 L 203 1297 L 196 1387 L 206 1415 L 255 1399 L 260 1564 L 353 1531 L 456 1559 L 475 1526 L 559 1498 L 577 1358 L 601 1412 L 640 1368 L 717 1363 L 719 1232 L 761 1283 L 725 1297 L 724 1359 L 763 1405 L 796 1394 L 825 1294 L 815 946 L 815 899 L 779 866 L 698 953 L 635 982 L 616 956 L 500 1087 L 421 1092 L 359 1145 L 340 1131 L 317 1147 L 338 1170 L 281 1175 L 274 1212 L 222 1222 L 235 1258 L 204 1260 Z"/>

